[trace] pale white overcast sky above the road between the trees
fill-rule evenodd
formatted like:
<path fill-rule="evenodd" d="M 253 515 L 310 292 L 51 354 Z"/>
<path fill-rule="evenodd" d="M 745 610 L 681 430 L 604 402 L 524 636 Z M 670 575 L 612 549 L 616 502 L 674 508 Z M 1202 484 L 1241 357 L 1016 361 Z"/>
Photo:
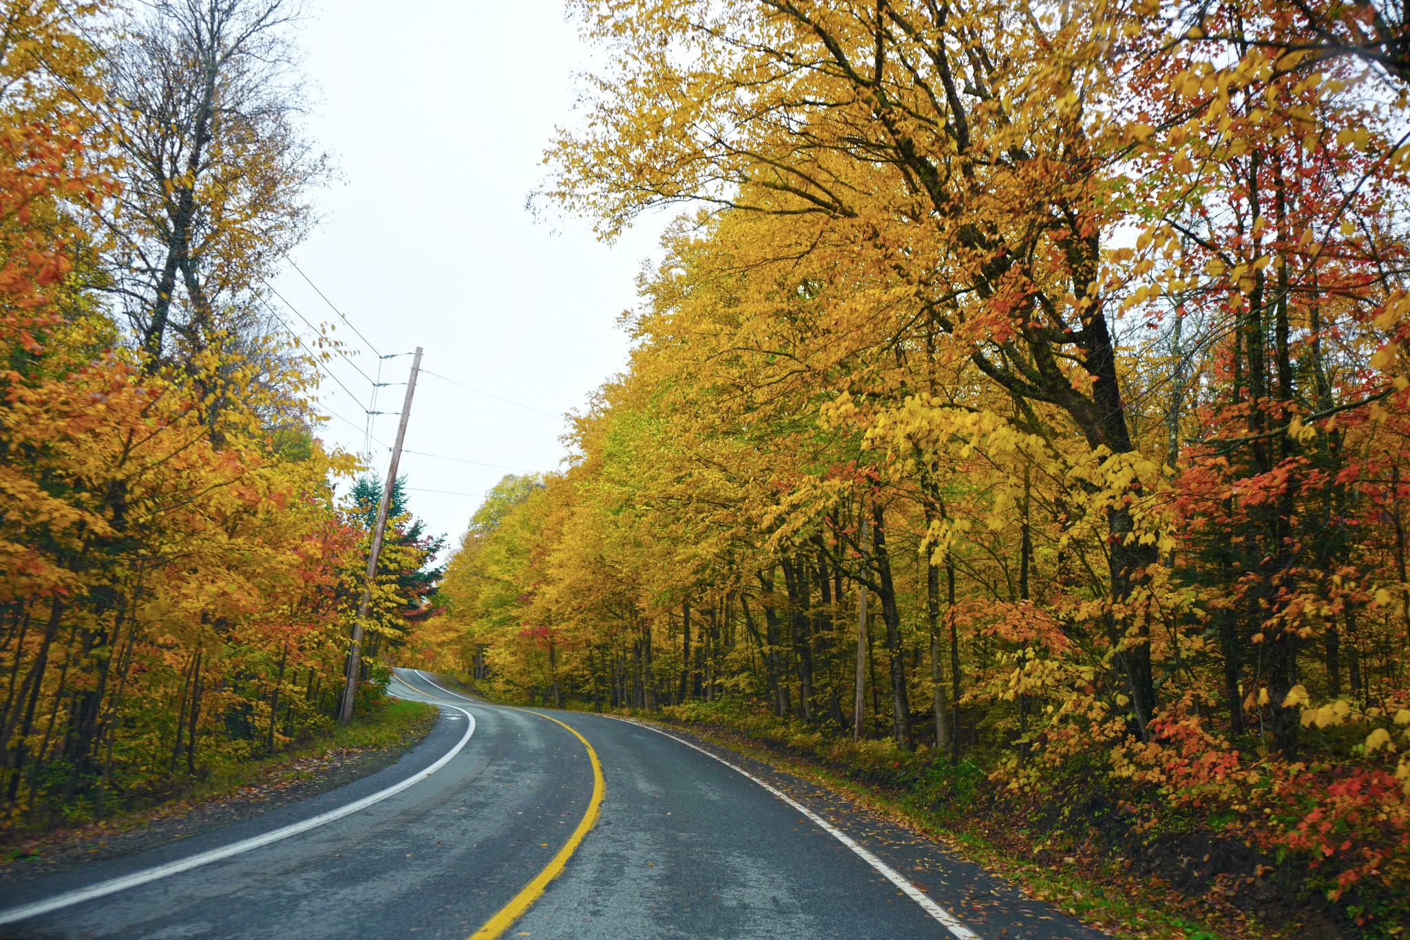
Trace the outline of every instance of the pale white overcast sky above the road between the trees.
<path fill-rule="evenodd" d="M 626 362 L 615 320 L 636 302 L 636 273 L 657 254 L 666 217 L 608 247 L 585 221 L 550 227 L 525 209 L 554 125 L 572 120 L 572 73 L 588 66 L 561 0 L 321 7 L 300 32 L 309 131 L 343 182 L 317 193 L 324 221 L 296 264 L 378 351 L 422 345 L 431 372 L 553 416 L 582 407 Z M 274 286 L 313 323 L 337 320 L 295 271 Z M 364 345 L 347 327 L 334 335 Z M 354 358 L 376 375 L 371 351 Z M 409 366 L 388 359 L 382 381 L 405 382 Z M 324 379 L 321 403 L 358 427 L 333 419 L 321 435 L 361 451 L 371 385 L 343 359 L 329 371 L 351 395 Z M 376 410 L 398 412 L 403 393 L 381 389 Z M 499 466 L 405 454 L 412 510 L 454 547 L 503 474 L 558 466 L 565 427 L 423 375 L 406 450 Z M 395 431 L 395 414 L 375 419 L 384 443 Z M 374 455 L 385 472 L 386 448 L 374 444 Z"/>

